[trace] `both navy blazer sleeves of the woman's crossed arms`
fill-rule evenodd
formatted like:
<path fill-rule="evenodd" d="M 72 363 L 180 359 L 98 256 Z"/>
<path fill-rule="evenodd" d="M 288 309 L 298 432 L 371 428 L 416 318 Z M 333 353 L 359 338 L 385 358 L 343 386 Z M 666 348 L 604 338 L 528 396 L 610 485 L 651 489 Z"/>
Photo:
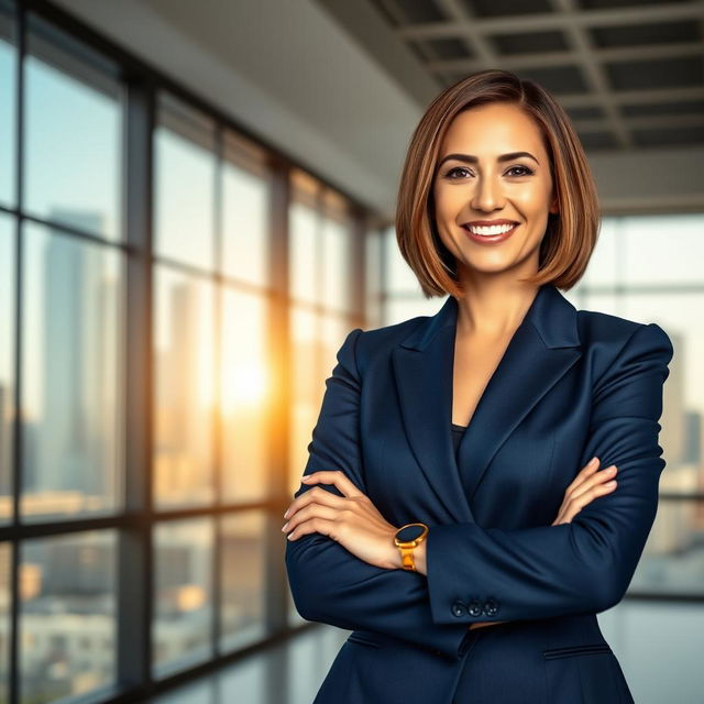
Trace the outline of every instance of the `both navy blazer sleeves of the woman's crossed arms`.
<path fill-rule="evenodd" d="M 366 493 L 359 438 L 362 378 L 345 338 L 326 381 L 304 474 L 338 469 Z M 286 541 L 296 608 L 307 620 L 388 635 L 460 659 L 474 617 L 452 604 L 468 594 L 501 604 L 483 622 L 600 613 L 624 596 L 654 520 L 664 469 L 658 444 L 662 385 L 673 350 L 656 323 L 639 326 L 595 382 L 582 464 L 618 466 L 618 488 L 569 524 L 518 530 L 429 525 L 427 574 L 385 570 L 319 534 Z M 323 488 L 338 494 L 334 485 Z M 312 488 L 301 484 L 298 497 Z"/>

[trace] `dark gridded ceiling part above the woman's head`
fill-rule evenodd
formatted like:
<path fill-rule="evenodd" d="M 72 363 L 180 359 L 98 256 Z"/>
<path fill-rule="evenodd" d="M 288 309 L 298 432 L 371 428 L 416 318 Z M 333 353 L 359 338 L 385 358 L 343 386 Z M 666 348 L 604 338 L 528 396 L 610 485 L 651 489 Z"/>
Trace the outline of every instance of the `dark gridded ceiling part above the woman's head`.
<path fill-rule="evenodd" d="M 428 78 L 437 92 L 504 68 L 552 92 L 590 152 L 704 144 L 704 2 L 369 0 L 422 81 L 374 45 L 355 14 L 365 3 L 318 2 L 421 105 Z"/>

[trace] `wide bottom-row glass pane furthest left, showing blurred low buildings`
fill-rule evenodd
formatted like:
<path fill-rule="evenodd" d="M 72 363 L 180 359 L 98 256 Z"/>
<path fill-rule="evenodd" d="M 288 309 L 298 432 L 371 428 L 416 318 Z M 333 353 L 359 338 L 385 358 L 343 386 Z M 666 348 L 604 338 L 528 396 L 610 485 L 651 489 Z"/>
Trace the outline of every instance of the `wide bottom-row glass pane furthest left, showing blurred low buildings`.
<path fill-rule="evenodd" d="M 20 553 L 22 704 L 116 682 L 117 535 L 26 541 Z"/>

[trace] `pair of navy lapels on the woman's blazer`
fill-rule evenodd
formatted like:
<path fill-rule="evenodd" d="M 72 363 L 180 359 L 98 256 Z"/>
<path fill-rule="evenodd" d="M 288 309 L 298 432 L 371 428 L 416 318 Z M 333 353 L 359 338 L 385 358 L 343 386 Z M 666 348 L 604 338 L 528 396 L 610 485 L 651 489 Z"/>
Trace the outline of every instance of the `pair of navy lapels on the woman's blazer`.
<path fill-rule="evenodd" d="M 458 301 L 450 296 L 392 358 L 414 455 L 451 520 L 468 522 L 474 521 L 472 497 L 498 449 L 582 352 L 574 306 L 543 284 L 480 398 L 455 462 L 450 425 L 457 317 Z M 469 495 L 460 468 L 469 473 Z"/>

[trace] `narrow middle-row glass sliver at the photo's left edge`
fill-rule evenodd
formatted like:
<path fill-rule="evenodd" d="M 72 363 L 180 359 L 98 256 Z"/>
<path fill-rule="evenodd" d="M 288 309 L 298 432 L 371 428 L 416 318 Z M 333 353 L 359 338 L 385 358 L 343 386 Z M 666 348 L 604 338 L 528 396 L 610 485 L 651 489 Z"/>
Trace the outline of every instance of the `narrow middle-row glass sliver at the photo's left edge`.
<path fill-rule="evenodd" d="M 0 213 L 0 522 L 12 516 L 15 266 L 14 220 Z"/>

